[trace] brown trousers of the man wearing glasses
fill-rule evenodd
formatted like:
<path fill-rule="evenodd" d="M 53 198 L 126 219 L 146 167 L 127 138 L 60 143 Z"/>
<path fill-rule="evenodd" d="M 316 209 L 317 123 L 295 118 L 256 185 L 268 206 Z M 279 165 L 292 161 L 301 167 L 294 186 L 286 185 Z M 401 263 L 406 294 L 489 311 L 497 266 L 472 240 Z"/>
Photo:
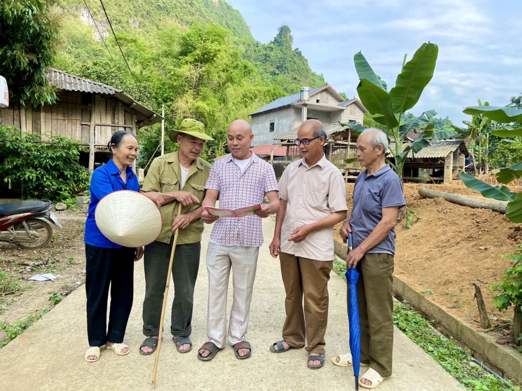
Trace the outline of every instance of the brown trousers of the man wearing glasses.
<path fill-rule="evenodd" d="M 333 260 L 315 260 L 280 253 L 281 275 L 286 299 L 287 318 L 283 339 L 294 348 L 321 354 L 325 352 L 325 332 L 328 323 L 328 280 Z M 304 311 L 303 311 L 304 297 Z"/>

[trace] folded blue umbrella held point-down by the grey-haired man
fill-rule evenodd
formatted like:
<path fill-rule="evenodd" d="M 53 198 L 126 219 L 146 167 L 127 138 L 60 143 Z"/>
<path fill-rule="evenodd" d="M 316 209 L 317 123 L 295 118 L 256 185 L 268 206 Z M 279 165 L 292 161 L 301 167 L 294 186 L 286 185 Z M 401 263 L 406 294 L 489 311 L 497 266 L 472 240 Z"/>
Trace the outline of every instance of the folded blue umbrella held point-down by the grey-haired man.
<path fill-rule="evenodd" d="M 344 241 L 346 243 L 346 240 Z M 353 250 L 353 236 L 348 232 L 348 252 Z M 350 351 L 352 354 L 355 390 L 359 389 L 359 371 L 361 369 L 361 325 L 359 323 L 359 302 L 357 298 L 359 272 L 350 268 L 346 271 L 348 282 L 348 321 L 350 323 Z"/>

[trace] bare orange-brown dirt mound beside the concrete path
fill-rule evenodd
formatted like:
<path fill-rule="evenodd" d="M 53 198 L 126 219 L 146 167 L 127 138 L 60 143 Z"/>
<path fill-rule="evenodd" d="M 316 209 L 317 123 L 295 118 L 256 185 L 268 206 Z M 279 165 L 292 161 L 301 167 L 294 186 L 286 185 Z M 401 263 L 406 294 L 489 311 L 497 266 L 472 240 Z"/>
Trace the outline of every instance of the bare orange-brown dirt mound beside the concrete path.
<path fill-rule="evenodd" d="M 496 295 L 489 289 L 512 265 L 500 254 L 512 254 L 522 243 L 522 228 L 503 214 L 489 209 L 472 209 L 443 198 L 423 199 L 420 187 L 435 191 L 481 198 L 480 193 L 461 183 L 447 185 L 404 185 L 408 209 L 419 217 L 412 228 L 404 222 L 396 227 L 395 275 L 413 289 L 442 306 L 473 327 L 480 323 L 474 287 L 477 283 L 490 316 L 511 318 L 512 311 L 499 313 L 492 305 Z M 513 187 L 514 191 L 519 188 Z M 352 206 L 353 184 L 346 185 L 347 203 Z M 334 236 L 339 238 L 341 224 Z"/>

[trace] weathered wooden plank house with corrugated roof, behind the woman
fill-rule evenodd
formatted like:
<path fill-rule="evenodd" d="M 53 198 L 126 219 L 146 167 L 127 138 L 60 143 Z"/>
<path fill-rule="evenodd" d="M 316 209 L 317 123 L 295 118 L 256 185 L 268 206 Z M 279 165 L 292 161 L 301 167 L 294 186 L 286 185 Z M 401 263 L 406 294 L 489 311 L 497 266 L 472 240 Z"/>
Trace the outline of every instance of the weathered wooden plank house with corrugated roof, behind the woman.
<path fill-rule="evenodd" d="M 11 101 L 0 109 L 4 125 L 22 132 L 73 138 L 88 147 L 82 163 L 92 172 L 106 162 L 107 144 L 117 131 L 136 135 L 136 129 L 161 122 L 162 117 L 128 97 L 122 90 L 49 68 L 48 79 L 56 87 L 57 101 L 51 105 L 26 106 Z M 86 154 L 87 155 L 87 154 Z M 133 167 L 135 168 L 135 167 Z"/>

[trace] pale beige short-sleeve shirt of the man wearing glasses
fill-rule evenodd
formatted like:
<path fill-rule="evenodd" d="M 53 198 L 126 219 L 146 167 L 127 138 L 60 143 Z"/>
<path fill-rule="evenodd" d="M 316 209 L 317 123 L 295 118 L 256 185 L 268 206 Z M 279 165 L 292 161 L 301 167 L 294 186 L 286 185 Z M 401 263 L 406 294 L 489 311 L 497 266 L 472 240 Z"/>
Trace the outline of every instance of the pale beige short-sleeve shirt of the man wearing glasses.
<path fill-rule="evenodd" d="M 281 252 L 316 260 L 333 260 L 333 227 L 312 232 L 300 243 L 288 239 L 296 228 L 348 209 L 345 181 L 339 169 L 324 155 L 312 167 L 308 167 L 305 159 L 293 162 L 279 180 L 279 198 L 288 202 L 281 227 Z"/>

